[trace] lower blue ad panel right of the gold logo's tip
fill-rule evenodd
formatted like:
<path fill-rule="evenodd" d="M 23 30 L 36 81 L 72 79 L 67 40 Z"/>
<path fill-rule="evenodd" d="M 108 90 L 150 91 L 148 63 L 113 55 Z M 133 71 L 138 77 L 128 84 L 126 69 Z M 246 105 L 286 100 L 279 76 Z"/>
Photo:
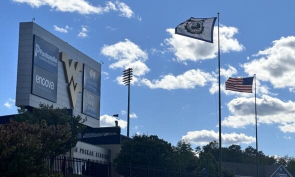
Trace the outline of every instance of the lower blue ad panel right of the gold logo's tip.
<path fill-rule="evenodd" d="M 99 118 L 100 96 L 83 89 L 83 108 L 82 112 L 94 118 Z"/>

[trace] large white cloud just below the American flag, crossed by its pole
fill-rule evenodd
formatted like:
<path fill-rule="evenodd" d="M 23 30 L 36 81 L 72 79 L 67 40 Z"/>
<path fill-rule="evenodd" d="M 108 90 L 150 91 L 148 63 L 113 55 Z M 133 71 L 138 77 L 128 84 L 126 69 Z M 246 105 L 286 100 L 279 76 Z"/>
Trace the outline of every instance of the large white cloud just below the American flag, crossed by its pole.
<path fill-rule="evenodd" d="M 255 124 L 254 97 L 237 97 L 226 106 L 230 113 L 222 120 L 222 125 L 238 128 Z M 275 123 L 282 132 L 295 132 L 295 102 L 263 94 L 256 98 L 256 106 L 258 123 Z"/>

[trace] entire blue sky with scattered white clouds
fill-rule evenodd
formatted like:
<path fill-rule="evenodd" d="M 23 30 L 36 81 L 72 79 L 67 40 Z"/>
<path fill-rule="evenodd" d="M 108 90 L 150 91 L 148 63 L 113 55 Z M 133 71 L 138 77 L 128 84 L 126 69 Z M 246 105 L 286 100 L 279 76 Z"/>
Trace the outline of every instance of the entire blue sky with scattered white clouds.
<path fill-rule="evenodd" d="M 100 125 L 118 119 L 126 134 L 155 134 L 193 147 L 218 140 L 218 38 L 174 34 L 189 17 L 220 13 L 222 145 L 255 147 L 254 93 L 225 90 L 231 77 L 256 74 L 258 150 L 295 156 L 295 24 L 292 0 L 1 0 L 0 115 L 15 107 L 18 27 L 31 21 L 101 66 Z M 113 114 L 119 114 L 117 118 Z"/>

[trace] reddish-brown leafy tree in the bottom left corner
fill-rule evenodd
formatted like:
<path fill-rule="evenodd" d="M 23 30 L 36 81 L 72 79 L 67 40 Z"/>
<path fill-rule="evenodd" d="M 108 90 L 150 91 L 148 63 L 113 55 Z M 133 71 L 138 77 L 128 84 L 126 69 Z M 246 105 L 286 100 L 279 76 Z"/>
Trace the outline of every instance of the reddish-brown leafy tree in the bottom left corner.
<path fill-rule="evenodd" d="M 45 121 L 29 124 L 11 120 L 1 125 L 1 176 L 46 175 L 44 158 L 69 139 L 68 129 L 68 125 L 47 125 Z"/>

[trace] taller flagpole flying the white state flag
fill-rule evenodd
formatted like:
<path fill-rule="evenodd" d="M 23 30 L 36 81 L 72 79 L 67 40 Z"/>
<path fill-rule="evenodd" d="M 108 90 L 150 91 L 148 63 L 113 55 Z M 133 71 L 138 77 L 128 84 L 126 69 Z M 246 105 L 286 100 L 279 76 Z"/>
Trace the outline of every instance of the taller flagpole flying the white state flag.
<path fill-rule="evenodd" d="M 221 101 L 220 101 L 220 47 L 219 47 L 219 12 L 218 17 L 218 96 L 219 96 L 219 170 L 220 177 L 222 177 L 222 153 L 221 153 Z"/>

